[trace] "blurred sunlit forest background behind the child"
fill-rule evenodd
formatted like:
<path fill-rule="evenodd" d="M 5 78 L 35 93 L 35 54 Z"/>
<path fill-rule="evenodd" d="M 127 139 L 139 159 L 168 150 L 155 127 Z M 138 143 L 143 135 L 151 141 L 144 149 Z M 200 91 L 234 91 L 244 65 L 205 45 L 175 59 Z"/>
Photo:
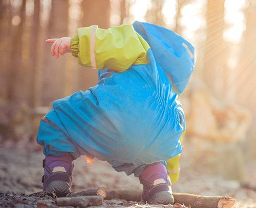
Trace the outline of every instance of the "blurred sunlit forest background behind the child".
<path fill-rule="evenodd" d="M 0 0 L 1 143 L 39 148 L 37 127 L 52 101 L 97 83 L 97 71 L 71 54 L 51 57 L 46 39 L 92 24 L 147 21 L 196 48 L 195 71 L 180 97 L 183 160 L 242 180 L 244 165 L 256 160 L 255 11 L 255 0 Z"/>

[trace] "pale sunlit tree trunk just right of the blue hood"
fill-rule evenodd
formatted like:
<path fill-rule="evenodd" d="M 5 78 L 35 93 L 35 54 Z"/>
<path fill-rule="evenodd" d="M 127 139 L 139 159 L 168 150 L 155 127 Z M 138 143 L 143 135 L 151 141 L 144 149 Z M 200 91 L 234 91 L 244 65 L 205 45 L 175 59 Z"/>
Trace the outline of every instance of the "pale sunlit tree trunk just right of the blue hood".
<path fill-rule="evenodd" d="M 223 98 L 225 82 L 226 44 L 223 40 L 225 0 L 207 1 L 206 41 L 204 47 L 204 80 L 210 91 Z"/>

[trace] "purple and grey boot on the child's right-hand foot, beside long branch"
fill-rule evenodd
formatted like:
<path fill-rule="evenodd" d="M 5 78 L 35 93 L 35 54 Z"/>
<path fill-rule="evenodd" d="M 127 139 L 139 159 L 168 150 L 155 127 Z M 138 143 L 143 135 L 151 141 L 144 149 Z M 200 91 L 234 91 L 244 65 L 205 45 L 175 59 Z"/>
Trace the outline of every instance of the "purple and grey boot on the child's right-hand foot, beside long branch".
<path fill-rule="evenodd" d="M 143 185 L 141 199 L 148 204 L 173 204 L 171 182 L 162 163 L 147 165 L 139 176 Z"/>

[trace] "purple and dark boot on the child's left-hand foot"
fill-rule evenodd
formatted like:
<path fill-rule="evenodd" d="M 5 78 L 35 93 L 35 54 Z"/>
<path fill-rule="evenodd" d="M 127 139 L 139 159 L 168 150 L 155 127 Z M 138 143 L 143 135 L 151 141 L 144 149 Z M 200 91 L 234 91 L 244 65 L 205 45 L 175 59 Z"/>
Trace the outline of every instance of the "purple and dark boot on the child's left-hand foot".
<path fill-rule="evenodd" d="M 58 197 L 71 192 L 74 164 L 70 154 L 60 157 L 46 156 L 42 161 L 42 167 L 45 169 L 42 176 L 44 191 L 54 191 Z"/>

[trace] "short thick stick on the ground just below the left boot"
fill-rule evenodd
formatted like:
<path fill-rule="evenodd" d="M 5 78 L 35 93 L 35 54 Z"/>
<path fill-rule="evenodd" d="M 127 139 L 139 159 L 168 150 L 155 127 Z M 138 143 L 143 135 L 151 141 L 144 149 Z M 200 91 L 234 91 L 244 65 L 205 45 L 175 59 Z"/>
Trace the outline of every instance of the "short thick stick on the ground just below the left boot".
<path fill-rule="evenodd" d="M 78 206 L 85 208 L 91 205 L 102 205 L 103 198 L 101 196 L 74 196 L 74 197 L 60 197 L 56 198 L 58 206 Z"/>

